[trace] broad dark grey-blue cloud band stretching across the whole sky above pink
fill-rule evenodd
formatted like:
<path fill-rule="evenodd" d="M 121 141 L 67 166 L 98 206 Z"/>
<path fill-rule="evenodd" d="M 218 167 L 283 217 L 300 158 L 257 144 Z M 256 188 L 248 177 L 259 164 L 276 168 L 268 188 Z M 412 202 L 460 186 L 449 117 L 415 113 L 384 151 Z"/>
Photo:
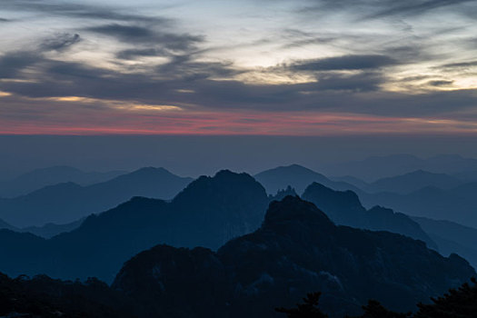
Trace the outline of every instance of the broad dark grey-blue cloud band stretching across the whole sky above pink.
<path fill-rule="evenodd" d="M 153 69 L 150 74 L 124 74 L 79 63 L 25 57 L 22 63 L 17 62 L 16 65 L 35 67 L 33 74 L 38 77 L 33 79 L 36 80 L 0 82 L 1 91 L 19 97 L 75 95 L 105 101 L 173 104 L 203 110 L 330 110 L 383 116 L 447 114 L 449 104 L 455 112 L 475 107 L 477 98 L 474 90 L 426 94 L 384 92 L 379 87 L 385 78 L 374 72 L 320 74 L 316 83 L 244 84 L 230 79 L 216 79 L 239 72 L 234 70 L 233 65 L 201 64 L 187 57 Z M 183 69 L 188 69 L 189 73 L 184 73 Z M 22 76 L 19 78 L 28 79 L 32 75 L 27 73 Z M 95 104 L 91 106 L 96 107 Z"/>

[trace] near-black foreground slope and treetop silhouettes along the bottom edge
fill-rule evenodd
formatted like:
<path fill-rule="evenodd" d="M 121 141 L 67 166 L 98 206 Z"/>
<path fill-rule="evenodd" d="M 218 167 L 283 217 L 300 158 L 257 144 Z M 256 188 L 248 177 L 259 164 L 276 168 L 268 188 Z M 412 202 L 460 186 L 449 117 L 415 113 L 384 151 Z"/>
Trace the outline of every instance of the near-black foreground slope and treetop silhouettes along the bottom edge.
<path fill-rule="evenodd" d="M 417 313 L 397 313 L 377 301 L 363 305 L 363 313 L 353 318 L 474 318 L 477 312 L 477 281 L 463 283 L 451 289 L 432 303 L 418 303 Z M 322 293 L 308 293 L 302 303 L 293 308 L 275 308 L 289 318 L 325 318 L 320 303 Z M 11 279 L 0 273 L 0 314 L 2 317 L 94 317 L 94 318 L 146 318 L 148 312 L 139 303 L 121 291 L 108 287 L 94 278 L 84 283 L 52 280 L 45 275 L 32 279 L 21 276 Z M 187 303 L 183 303 L 187 305 Z M 332 316 L 335 314 L 332 313 Z M 214 308 L 210 316 L 214 317 Z M 172 316 L 174 317 L 174 316 Z M 284 318 L 284 315 L 282 315 Z M 346 318 L 349 316 L 346 315 Z"/>

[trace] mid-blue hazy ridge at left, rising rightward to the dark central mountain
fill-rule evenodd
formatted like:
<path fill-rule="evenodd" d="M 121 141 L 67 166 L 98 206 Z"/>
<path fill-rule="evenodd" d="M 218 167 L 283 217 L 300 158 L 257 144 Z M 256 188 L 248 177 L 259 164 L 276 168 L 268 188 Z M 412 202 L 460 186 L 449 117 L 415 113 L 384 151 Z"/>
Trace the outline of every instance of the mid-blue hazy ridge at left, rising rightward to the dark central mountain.
<path fill-rule="evenodd" d="M 164 168 L 143 168 L 101 184 L 55 184 L 14 199 L 1 199 L 0 218 L 16 227 L 66 224 L 133 196 L 171 199 L 191 181 Z"/>

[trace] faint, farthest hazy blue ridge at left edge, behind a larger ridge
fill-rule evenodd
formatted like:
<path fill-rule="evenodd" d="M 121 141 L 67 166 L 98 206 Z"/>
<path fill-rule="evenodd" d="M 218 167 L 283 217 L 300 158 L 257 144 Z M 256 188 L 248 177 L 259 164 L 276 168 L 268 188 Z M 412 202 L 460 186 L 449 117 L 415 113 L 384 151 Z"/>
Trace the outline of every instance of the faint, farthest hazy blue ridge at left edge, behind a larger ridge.
<path fill-rule="evenodd" d="M 86 173 L 79 169 L 58 165 L 43 169 L 36 169 L 17 176 L 15 179 L 0 183 L 0 197 L 11 198 L 19 195 L 29 194 L 47 185 L 63 184 L 72 182 L 75 184 L 89 185 L 98 184 L 113 179 L 124 171 L 110 171 L 105 173 Z"/>

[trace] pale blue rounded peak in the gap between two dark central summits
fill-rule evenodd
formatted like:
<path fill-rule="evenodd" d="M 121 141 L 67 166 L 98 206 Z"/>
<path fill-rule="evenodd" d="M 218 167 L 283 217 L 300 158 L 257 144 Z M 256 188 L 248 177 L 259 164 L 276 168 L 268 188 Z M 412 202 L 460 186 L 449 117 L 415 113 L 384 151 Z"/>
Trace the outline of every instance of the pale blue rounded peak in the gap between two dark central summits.
<path fill-rule="evenodd" d="M 276 194 L 277 191 L 286 189 L 288 185 L 292 186 L 298 194 L 303 194 L 304 189 L 313 182 L 338 190 L 356 190 L 356 187 L 352 184 L 332 181 L 323 174 L 318 174 L 298 164 L 266 170 L 260 174 L 255 174 L 254 178 L 263 184 L 269 194 Z"/>

